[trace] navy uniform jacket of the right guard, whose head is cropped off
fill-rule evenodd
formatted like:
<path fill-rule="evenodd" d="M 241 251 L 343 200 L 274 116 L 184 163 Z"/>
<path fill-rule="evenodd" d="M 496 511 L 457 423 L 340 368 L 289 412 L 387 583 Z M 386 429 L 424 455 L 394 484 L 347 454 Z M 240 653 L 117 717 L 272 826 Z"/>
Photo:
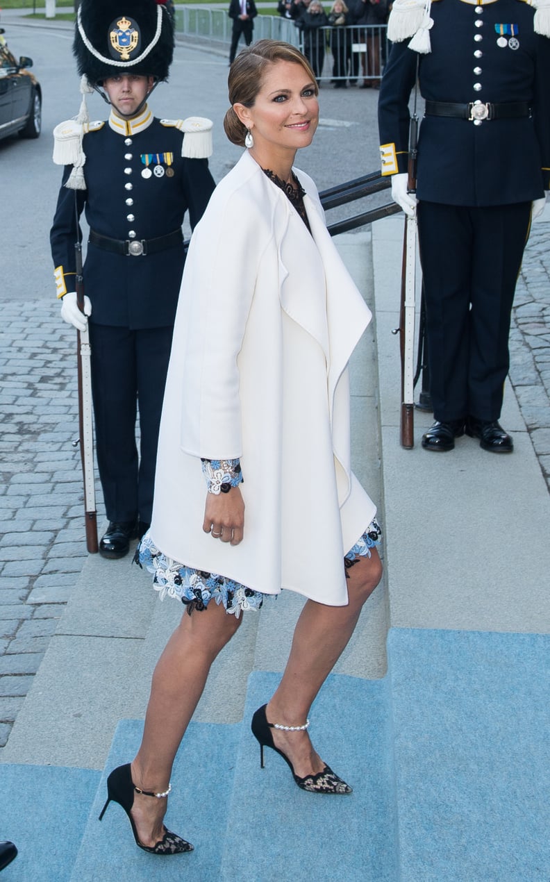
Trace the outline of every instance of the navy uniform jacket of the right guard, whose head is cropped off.
<path fill-rule="evenodd" d="M 407 170 L 409 98 L 418 58 L 420 93 L 429 101 L 527 101 L 532 108 L 531 119 L 480 125 L 425 116 L 418 150 L 420 199 L 497 206 L 541 198 L 550 189 L 550 39 L 534 33 L 533 15 L 521 0 L 478 7 L 439 0 L 431 8 L 431 53 L 419 56 L 408 41 L 394 43 L 379 103 L 383 174 Z M 495 25 L 511 24 L 517 26 L 517 49 L 497 44 Z"/>

